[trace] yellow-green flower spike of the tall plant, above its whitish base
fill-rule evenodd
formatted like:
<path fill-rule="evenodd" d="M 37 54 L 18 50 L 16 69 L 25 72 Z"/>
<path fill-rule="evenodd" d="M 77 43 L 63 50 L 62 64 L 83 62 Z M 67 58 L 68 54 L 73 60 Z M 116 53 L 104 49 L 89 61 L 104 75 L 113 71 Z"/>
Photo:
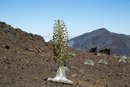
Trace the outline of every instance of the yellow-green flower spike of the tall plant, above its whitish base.
<path fill-rule="evenodd" d="M 59 66 L 63 66 L 67 59 L 68 32 L 63 21 L 56 20 L 53 31 L 54 60 Z"/>

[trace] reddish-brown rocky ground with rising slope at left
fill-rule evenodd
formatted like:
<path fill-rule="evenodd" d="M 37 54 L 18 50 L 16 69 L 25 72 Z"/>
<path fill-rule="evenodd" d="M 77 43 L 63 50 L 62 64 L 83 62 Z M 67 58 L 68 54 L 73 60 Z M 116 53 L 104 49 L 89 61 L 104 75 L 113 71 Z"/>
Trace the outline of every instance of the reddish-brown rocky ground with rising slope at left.
<path fill-rule="evenodd" d="M 57 68 L 52 44 L 39 35 L 14 29 L 0 22 L 0 87 L 130 87 L 130 62 L 119 62 L 112 55 L 97 56 L 69 49 L 74 57 L 67 60 L 67 78 L 72 85 L 46 81 Z M 94 65 L 86 65 L 87 59 Z M 105 59 L 108 64 L 99 64 Z"/>

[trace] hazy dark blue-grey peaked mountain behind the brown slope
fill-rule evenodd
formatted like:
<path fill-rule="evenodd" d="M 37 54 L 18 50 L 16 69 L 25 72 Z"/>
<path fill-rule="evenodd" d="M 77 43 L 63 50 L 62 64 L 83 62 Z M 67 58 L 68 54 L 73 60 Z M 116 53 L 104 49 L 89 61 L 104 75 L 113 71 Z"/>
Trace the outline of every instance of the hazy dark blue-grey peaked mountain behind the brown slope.
<path fill-rule="evenodd" d="M 111 54 L 130 56 L 130 35 L 118 34 L 100 28 L 69 40 L 69 47 L 89 51 L 110 48 Z"/>

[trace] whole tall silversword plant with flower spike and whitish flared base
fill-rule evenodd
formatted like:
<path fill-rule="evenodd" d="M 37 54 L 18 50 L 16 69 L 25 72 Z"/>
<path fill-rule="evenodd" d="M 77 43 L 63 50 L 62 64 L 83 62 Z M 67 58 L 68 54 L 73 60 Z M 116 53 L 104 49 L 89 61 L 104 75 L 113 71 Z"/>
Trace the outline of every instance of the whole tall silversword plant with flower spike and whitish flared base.
<path fill-rule="evenodd" d="M 48 81 L 72 84 L 73 82 L 66 78 L 64 67 L 68 51 L 68 32 L 64 21 L 56 20 L 53 29 L 53 53 L 58 70 L 56 76 L 48 78 Z"/>

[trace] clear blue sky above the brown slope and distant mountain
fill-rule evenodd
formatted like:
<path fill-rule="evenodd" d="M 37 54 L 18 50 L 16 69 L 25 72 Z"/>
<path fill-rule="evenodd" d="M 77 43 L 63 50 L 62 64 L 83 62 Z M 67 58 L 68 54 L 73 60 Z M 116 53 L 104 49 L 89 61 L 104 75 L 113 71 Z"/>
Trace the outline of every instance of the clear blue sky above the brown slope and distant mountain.
<path fill-rule="evenodd" d="M 130 35 L 130 0 L 0 0 L 0 21 L 27 32 L 52 35 L 58 18 L 69 35 L 102 27 Z"/>

